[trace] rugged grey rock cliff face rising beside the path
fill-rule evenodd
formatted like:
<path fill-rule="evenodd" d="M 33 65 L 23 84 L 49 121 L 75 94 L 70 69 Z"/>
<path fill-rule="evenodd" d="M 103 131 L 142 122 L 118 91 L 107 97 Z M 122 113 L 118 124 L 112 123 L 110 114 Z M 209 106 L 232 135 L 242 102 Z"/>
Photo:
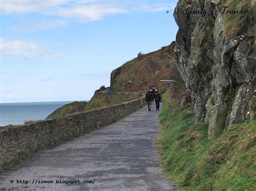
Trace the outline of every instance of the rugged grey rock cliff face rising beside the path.
<path fill-rule="evenodd" d="M 174 58 L 190 90 L 196 122 L 210 123 L 209 138 L 255 113 L 255 28 L 224 37 L 224 15 L 216 6 L 221 3 L 179 0 L 174 11 L 179 26 Z M 185 15 L 203 7 L 205 16 Z"/>

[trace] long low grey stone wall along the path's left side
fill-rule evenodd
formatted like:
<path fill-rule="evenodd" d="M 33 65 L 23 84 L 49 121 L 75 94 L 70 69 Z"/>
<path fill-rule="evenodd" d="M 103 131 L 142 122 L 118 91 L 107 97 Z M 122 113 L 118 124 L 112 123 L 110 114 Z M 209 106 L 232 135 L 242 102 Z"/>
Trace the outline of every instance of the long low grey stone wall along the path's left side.
<path fill-rule="evenodd" d="M 22 126 L 9 126 L 0 131 L 0 166 L 22 151 L 36 152 L 63 142 L 66 137 L 80 135 L 111 124 L 114 119 L 130 114 L 145 105 L 144 96 L 137 100 L 81 114 L 49 119 Z"/>

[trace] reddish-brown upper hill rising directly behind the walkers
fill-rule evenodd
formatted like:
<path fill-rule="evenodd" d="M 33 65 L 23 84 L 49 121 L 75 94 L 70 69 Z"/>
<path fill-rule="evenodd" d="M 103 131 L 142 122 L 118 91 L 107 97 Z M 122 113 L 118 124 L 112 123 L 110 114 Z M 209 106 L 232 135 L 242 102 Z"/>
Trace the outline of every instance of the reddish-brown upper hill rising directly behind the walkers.
<path fill-rule="evenodd" d="M 149 86 L 160 89 L 169 87 L 160 80 L 171 77 L 174 46 L 175 42 L 172 42 L 158 51 L 139 53 L 137 58 L 113 70 L 110 84 L 113 91 L 145 93 Z"/>

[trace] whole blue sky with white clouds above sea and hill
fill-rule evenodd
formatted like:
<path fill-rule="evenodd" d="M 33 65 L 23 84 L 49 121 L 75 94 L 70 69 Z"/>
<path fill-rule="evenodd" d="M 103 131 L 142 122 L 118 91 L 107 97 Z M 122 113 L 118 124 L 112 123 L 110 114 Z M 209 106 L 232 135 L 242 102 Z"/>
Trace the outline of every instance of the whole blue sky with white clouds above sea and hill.
<path fill-rule="evenodd" d="M 0 103 L 90 100 L 113 69 L 175 40 L 176 3 L 0 0 Z"/>

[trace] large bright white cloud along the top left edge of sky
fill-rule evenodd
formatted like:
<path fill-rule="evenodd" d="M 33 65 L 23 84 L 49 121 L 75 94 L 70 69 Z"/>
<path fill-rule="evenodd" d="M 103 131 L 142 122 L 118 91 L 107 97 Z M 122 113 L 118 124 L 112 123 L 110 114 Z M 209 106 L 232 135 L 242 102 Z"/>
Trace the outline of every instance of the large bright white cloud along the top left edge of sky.
<path fill-rule="evenodd" d="M 2 1 L 0 10 L 4 14 L 39 12 L 44 15 L 79 19 L 82 22 L 95 21 L 106 15 L 124 13 L 117 3 L 107 1 Z"/>

